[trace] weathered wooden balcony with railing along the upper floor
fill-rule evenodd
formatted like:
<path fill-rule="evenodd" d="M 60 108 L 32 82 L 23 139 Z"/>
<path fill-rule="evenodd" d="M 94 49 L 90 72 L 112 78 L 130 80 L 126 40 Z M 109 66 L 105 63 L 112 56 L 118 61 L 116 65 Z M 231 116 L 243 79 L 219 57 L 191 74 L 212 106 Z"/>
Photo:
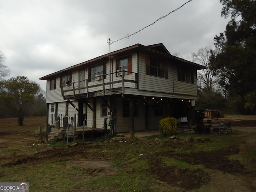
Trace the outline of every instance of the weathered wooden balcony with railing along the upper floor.
<path fill-rule="evenodd" d="M 62 85 L 61 94 L 64 100 L 82 99 L 124 93 L 125 88 L 137 87 L 138 74 L 123 70 Z"/>

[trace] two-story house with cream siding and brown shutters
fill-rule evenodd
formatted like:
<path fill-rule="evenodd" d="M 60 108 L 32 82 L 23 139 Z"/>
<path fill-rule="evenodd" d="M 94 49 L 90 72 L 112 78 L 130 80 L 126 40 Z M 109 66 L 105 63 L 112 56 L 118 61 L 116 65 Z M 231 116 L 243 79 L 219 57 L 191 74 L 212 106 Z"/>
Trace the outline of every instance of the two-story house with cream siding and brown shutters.
<path fill-rule="evenodd" d="M 205 67 L 172 56 L 160 44 L 136 44 L 41 77 L 47 81 L 47 122 L 77 115 L 77 126 L 115 132 L 158 129 L 159 120 L 191 122 L 197 99 L 197 70 Z"/>

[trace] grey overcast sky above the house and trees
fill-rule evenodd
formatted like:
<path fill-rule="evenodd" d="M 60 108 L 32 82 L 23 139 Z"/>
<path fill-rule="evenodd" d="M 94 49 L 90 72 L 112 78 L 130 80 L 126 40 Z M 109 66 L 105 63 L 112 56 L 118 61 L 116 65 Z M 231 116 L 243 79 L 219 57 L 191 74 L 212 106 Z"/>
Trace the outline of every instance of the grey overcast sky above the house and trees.
<path fill-rule="evenodd" d="M 46 90 L 40 77 L 109 52 L 116 41 L 148 26 L 188 0 L 1 0 L 0 51 L 11 77 L 26 76 Z M 219 0 L 192 0 L 166 18 L 111 44 L 163 43 L 187 58 L 224 32 Z"/>

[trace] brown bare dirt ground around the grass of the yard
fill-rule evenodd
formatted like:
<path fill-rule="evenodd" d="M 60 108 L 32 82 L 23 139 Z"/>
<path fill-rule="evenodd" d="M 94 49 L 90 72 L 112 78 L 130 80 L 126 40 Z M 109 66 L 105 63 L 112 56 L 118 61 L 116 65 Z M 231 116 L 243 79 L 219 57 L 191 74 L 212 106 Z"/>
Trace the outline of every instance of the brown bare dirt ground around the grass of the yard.
<path fill-rule="evenodd" d="M 110 161 L 120 154 L 81 153 L 83 148 L 102 148 L 96 142 L 78 143 L 69 148 L 73 148 L 72 153 L 68 148 L 52 148 L 47 144 L 38 144 L 39 135 L 36 130 L 42 125 L 44 128 L 45 118 L 26 118 L 24 126 L 17 126 L 16 118 L 0 119 L 0 166 L 12 166 L 18 164 L 39 164 L 53 158 L 72 160 L 72 165 L 76 164 L 81 168 L 88 169 L 90 176 L 113 175 L 116 168 L 112 167 Z M 205 119 L 206 121 L 206 119 Z M 220 122 L 231 122 L 232 130 L 239 131 L 239 134 L 232 135 L 234 140 L 244 140 L 239 146 L 234 145 L 222 150 L 212 152 L 195 152 L 191 154 L 176 154 L 173 150 L 161 154 L 151 154 L 144 158 L 150 158 L 149 174 L 158 177 L 161 185 L 170 190 L 165 191 L 188 191 L 198 189 L 206 192 L 256 192 L 256 157 L 250 162 L 246 158 L 241 158 L 243 154 L 256 147 L 256 116 L 225 116 L 224 118 L 212 119 L 214 124 Z M 35 132 L 33 134 L 33 132 Z M 216 134 L 216 133 L 214 133 Z M 115 142 L 115 141 L 113 141 Z M 116 141 L 117 144 L 120 142 Z M 137 141 L 148 142 L 146 138 Z M 200 140 L 198 142 L 207 142 Z M 190 145 L 190 141 L 182 141 L 182 145 Z M 176 142 L 176 147 L 181 145 Z M 34 146 L 37 146 L 34 148 Z M 150 146 L 154 147 L 154 145 Z M 173 148 L 173 146 L 172 146 Z M 238 158 L 239 154 L 239 158 Z M 255 153 L 254 153 L 255 154 Z M 114 155 L 114 156 L 113 156 Z M 162 165 L 159 156 L 174 157 L 190 164 L 203 164 L 206 169 L 181 170 L 177 167 Z M 68 165 L 68 164 L 67 164 Z M 71 166 L 71 165 L 70 165 Z M 202 180 L 204 178 L 204 180 Z M 0 174 L 1 180 L 1 174 Z M 81 191 L 83 189 L 80 189 Z M 79 191 L 79 190 L 74 190 Z"/>

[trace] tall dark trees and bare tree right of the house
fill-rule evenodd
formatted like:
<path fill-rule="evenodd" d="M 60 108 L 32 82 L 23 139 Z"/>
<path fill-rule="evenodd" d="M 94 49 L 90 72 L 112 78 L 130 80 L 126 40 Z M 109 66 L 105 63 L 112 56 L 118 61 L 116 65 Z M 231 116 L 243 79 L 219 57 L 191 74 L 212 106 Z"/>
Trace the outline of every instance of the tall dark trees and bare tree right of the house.
<path fill-rule="evenodd" d="M 256 114 L 256 1 L 220 0 L 230 19 L 214 37 L 215 49 L 201 48 L 190 59 L 206 66 L 198 72 L 197 107 Z"/>

